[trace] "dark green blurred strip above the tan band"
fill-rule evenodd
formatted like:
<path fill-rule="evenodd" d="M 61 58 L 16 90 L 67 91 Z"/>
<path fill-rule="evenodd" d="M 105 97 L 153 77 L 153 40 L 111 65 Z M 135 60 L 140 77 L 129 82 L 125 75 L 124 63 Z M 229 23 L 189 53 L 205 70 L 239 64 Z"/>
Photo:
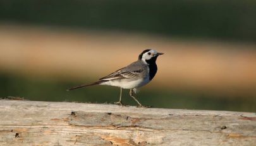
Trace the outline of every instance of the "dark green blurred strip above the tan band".
<path fill-rule="evenodd" d="M 253 0 L 2 0 L 0 21 L 256 42 Z"/>

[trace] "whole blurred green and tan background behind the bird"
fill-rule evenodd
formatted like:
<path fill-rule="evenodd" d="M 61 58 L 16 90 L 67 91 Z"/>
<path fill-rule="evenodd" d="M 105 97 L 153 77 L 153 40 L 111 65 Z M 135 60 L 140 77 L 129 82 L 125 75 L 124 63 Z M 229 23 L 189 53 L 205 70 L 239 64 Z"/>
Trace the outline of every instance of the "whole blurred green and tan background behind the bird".
<path fill-rule="evenodd" d="M 157 108 L 256 111 L 256 1 L 0 1 L 0 97 L 114 103 L 90 83 L 163 52 L 137 99 Z M 136 105 L 123 92 L 125 104 Z"/>

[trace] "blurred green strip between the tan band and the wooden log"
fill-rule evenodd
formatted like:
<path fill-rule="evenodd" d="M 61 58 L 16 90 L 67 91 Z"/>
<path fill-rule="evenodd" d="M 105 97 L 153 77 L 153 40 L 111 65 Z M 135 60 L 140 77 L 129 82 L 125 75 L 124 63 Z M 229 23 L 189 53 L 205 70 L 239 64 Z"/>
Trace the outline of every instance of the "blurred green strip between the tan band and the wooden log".
<path fill-rule="evenodd" d="M 119 100 L 118 87 L 91 86 L 66 91 L 67 88 L 77 84 L 78 82 L 68 82 L 61 79 L 15 76 L 2 73 L 0 74 L 0 98 L 19 96 L 33 101 L 72 101 L 87 103 L 114 103 Z M 123 90 L 123 103 L 136 106 L 137 103 L 130 98 L 128 92 L 129 90 Z M 252 97 L 227 98 L 224 96 L 202 94 L 201 92 L 150 89 L 149 86 L 142 87 L 136 96 L 142 104 L 154 106 L 155 108 L 256 111 L 256 98 Z"/>

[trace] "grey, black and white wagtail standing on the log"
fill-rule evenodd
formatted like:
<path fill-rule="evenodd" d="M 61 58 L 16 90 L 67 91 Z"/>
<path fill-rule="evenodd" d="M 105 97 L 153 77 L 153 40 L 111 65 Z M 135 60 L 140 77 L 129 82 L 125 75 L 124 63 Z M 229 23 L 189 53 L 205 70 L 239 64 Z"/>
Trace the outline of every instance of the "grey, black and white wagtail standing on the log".
<path fill-rule="evenodd" d="M 102 77 L 97 82 L 75 86 L 67 91 L 97 84 L 117 86 L 121 88 L 121 91 L 119 101 L 116 102 L 116 104 L 123 105 L 121 103 L 122 89 L 130 89 L 131 98 L 133 98 L 139 106 L 142 106 L 142 104 L 140 104 L 140 102 L 138 102 L 138 100 L 133 96 L 133 93 L 136 93 L 136 89 L 138 87 L 144 86 L 153 79 L 157 72 L 157 65 L 155 64 L 155 61 L 157 60 L 157 57 L 162 54 L 164 53 L 158 53 L 152 49 L 143 50 L 143 52 L 138 56 L 138 60 L 136 62 L 133 62 L 122 69 L 116 70 L 106 77 Z"/>

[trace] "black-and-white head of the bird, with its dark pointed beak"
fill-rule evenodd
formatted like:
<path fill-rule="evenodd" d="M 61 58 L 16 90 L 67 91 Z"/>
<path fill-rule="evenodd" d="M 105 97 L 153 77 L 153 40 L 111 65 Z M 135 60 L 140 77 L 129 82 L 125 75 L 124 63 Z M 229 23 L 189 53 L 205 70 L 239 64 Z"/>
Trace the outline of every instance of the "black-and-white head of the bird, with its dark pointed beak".
<path fill-rule="evenodd" d="M 159 52 L 157 52 L 155 50 L 152 50 L 152 49 L 147 49 L 147 50 L 143 50 L 143 52 L 140 53 L 140 55 L 138 55 L 138 59 L 142 60 L 146 64 L 149 64 L 149 62 L 155 62 L 157 57 L 159 55 L 163 55 L 163 54 L 164 53 L 159 53 Z"/>

